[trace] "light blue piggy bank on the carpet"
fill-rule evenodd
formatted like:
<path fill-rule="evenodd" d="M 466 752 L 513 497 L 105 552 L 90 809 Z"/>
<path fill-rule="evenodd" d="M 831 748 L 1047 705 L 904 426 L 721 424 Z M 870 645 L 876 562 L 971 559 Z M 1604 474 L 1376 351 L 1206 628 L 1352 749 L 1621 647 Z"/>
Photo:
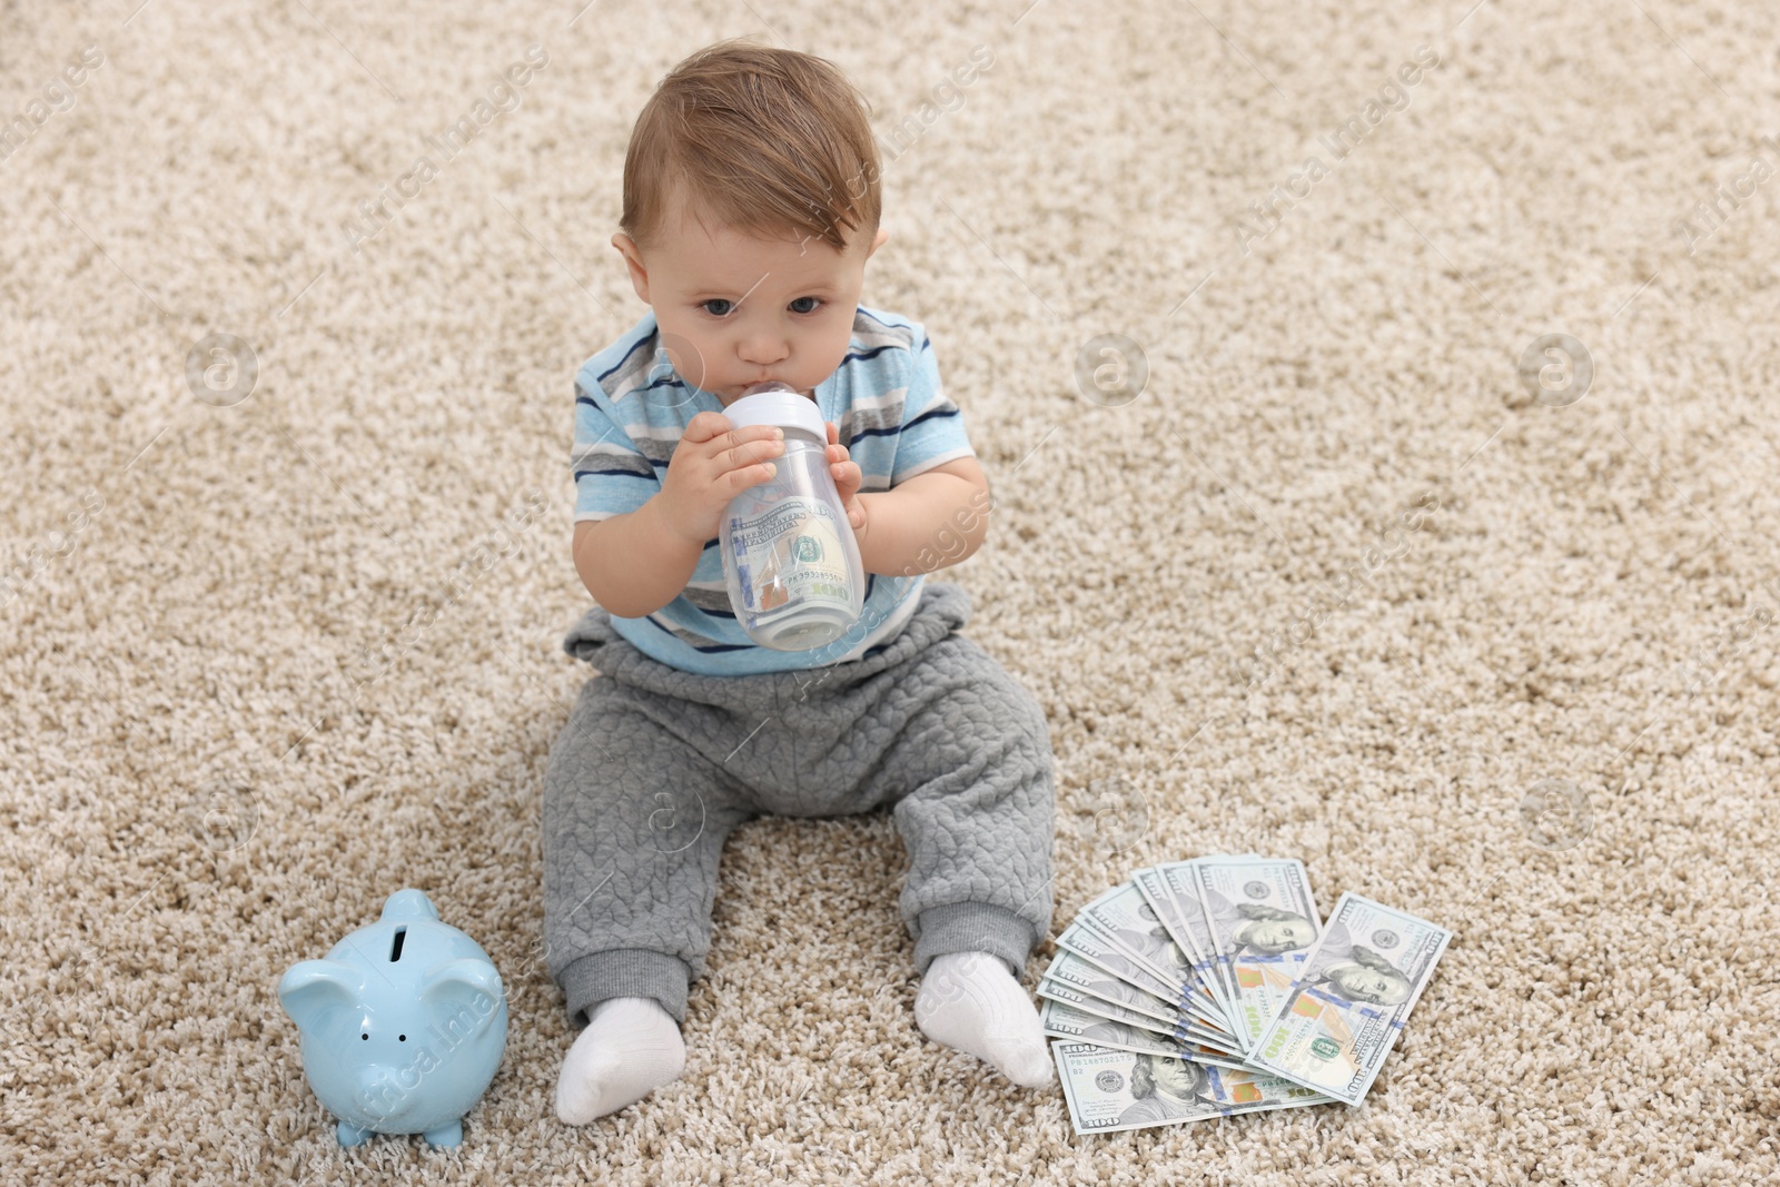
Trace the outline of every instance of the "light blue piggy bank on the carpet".
<path fill-rule="evenodd" d="M 463 1141 L 507 1050 L 507 995 L 488 954 L 418 890 L 320 961 L 292 965 L 278 1000 L 303 1032 L 303 1073 L 356 1146 L 372 1134 Z"/>

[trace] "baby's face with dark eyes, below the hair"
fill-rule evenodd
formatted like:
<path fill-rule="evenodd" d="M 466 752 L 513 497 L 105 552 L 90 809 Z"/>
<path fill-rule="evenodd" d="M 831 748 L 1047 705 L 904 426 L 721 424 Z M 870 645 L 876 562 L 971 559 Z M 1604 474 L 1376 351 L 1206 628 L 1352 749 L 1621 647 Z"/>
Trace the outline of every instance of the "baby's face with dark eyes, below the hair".
<path fill-rule="evenodd" d="M 612 246 L 630 265 L 637 295 L 655 308 L 668 361 L 724 408 L 742 388 L 778 379 L 805 395 L 847 354 L 865 260 L 885 242 L 854 233 L 840 253 L 810 237 L 753 238 L 703 226 L 680 203 L 648 258 L 619 231 Z"/>

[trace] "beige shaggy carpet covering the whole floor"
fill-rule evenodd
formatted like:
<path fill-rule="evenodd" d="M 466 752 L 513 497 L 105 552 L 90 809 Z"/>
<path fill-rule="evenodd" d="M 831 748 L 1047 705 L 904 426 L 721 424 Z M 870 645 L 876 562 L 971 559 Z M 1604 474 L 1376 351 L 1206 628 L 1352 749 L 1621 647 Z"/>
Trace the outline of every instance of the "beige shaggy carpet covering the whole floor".
<path fill-rule="evenodd" d="M 135 5 L 0 9 L 0 1180 L 1776 1173 L 1768 5 Z M 742 828 L 685 1077 L 555 1119 L 570 384 L 643 311 L 630 123 L 735 34 L 902 126 L 867 301 L 999 498 L 945 577 L 1050 714 L 1057 927 L 1242 849 L 1454 927 L 1363 1107 L 1075 1137 L 915 1029 L 878 815 Z M 203 356 L 194 397 L 212 333 L 251 392 Z M 1559 333 L 1586 392 L 1522 379 Z M 1096 335 L 1137 399 L 1084 397 Z M 493 954 L 507 1055 L 459 1151 L 342 1153 L 274 984 L 404 884 Z"/>

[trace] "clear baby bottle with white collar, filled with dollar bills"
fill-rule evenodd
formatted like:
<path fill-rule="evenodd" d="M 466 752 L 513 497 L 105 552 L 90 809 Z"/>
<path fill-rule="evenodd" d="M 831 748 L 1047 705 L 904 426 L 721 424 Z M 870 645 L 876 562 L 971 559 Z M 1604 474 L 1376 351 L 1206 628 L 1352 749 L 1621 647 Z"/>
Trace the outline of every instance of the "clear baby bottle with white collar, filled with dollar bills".
<path fill-rule="evenodd" d="M 778 425 L 778 473 L 730 500 L 717 530 L 735 621 L 774 651 L 840 639 L 865 609 L 865 566 L 828 470 L 828 425 L 815 400 L 756 383 L 723 409 L 737 429 Z"/>

